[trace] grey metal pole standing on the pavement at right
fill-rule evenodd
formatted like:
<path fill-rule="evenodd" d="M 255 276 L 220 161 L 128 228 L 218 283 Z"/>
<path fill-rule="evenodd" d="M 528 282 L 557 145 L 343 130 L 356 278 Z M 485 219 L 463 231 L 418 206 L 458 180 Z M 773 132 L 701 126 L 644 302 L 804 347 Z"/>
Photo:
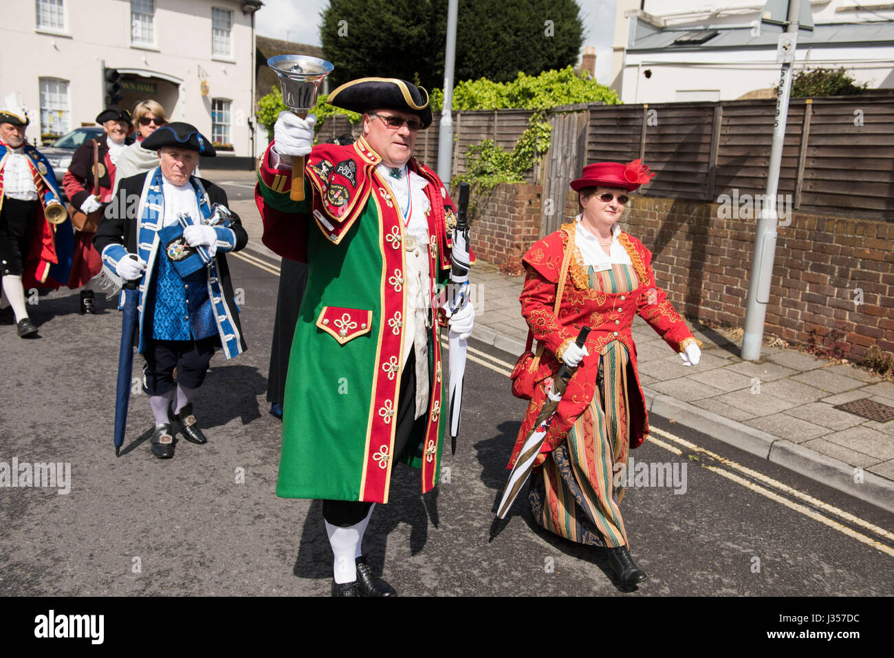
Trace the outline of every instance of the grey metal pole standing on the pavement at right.
<path fill-rule="evenodd" d="M 770 301 L 770 283 L 773 274 L 773 259 L 776 256 L 777 192 L 779 191 L 782 146 L 785 140 L 786 121 L 789 118 L 789 96 L 791 94 L 792 63 L 795 61 L 798 21 L 802 0 L 789 0 L 788 25 L 785 30 L 794 39 L 791 52 L 783 56 L 780 72 L 780 89 L 776 98 L 776 121 L 773 123 L 773 141 L 770 149 L 770 169 L 767 173 L 767 187 L 763 207 L 757 219 L 755 235 L 755 256 L 751 262 L 751 280 L 748 283 L 748 298 L 745 311 L 745 332 L 742 336 L 742 359 L 755 361 L 761 358 L 763 344 L 763 324 Z M 780 51 L 781 52 L 781 47 Z"/>

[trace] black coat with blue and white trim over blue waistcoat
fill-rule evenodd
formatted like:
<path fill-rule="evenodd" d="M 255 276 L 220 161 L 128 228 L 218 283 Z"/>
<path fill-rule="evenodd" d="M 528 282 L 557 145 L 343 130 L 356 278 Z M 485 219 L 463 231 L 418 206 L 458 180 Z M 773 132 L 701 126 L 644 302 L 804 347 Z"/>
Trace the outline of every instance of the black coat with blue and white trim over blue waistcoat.
<path fill-rule="evenodd" d="M 162 228 L 161 217 L 164 215 L 164 207 L 155 208 L 159 218 L 157 224 L 144 217 L 148 187 L 155 171 L 139 173 L 120 182 L 118 193 L 107 207 L 93 238 L 93 245 L 102 256 L 103 264 L 114 271 L 117 271 L 118 261 L 129 253 L 137 254 L 148 263 L 146 272 L 139 282 L 139 352 L 143 351 L 144 339 L 152 337 L 152 328 L 143 326 L 146 293 L 150 290 L 152 277 L 158 269 L 156 260 L 164 257 L 157 233 Z M 226 192 L 213 182 L 200 178 L 190 180 L 198 183 L 199 189 L 207 196 L 209 205 L 219 203 L 227 206 Z M 248 346 L 242 335 L 239 308 L 233 299 L 230 268 L 227 266 L 224 253 L 239 251 L 245 247 L 249 236 L 242 228 L 239 215 L 235 213 L 232 214 L 232 223 L 229 227 L 215 226 L 215 232 L 217 252 L 212 264 L 206 269 L 208 297 L 212 300 L 217 335 L 223 354 L 227 359 L 232 359 L 247 350 Z"/>

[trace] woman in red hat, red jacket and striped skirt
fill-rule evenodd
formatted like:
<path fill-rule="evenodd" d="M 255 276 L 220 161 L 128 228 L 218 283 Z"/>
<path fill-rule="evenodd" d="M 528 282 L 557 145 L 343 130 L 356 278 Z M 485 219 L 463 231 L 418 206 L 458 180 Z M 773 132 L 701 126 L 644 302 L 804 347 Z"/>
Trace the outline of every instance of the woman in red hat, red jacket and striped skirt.
<path fill-rule="evenodd" d="M 620 230 L 628 193 L 654 173 L 636 160 L 628 165 L 587 165 L 571 182 L 581 215 L 537 241 L 523 258 L 527 279 L 521 313 L 542 350 L 536 387 L 510 468 L 534 429 L 546 390 L 561 362 L 579 365 L 556 409 L 544 447 L 531 475 L 529 502 L 537 523 L 580 544 L 603 546 L 621 584 L 645 580 L 628 553 L 619 503 L 628 451 L 649 433 L 645 398 L 637 374 L 637 348 L 631 329 L 639 314 L 696 365 L 701 343 L 655 283 L 652 253 Z M 567 274 L 561 277 L 569 254 Z M 561 304 L 554 313 L 561 286 Z M 574 344 L 583 326 L 591 329 L 583 348 Z M 621 468 L 624 470 L 621 470 Z"/>

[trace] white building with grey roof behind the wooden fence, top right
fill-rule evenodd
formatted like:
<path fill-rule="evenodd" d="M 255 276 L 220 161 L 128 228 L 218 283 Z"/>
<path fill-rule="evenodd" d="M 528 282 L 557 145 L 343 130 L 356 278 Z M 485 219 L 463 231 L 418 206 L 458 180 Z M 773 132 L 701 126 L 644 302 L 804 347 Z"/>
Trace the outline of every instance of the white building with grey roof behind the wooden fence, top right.
<path fill-rule="evenodd" d="M 869 89 L 894 88 L 894 4 L 802 2 L 815 27 L 799 31 L 796 72 L 843 66 Z M 780 73 L 781 29 L 760 21 L 764 6 L 763 0 L 618 0 L 612 87 L 624 103 L 768 97 Z"/>

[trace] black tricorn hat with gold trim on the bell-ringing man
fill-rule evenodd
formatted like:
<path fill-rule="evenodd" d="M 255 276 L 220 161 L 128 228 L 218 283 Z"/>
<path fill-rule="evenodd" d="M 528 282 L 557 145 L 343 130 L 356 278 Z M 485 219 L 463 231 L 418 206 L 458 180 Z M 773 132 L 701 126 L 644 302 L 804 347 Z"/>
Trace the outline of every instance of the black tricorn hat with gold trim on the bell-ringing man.
<path fill-rule="evenodd" d="M 403 110 L 417 114 L 425 128 L 432 123 L 428 92 L 407 80 L 397 78 L 358 78 L 335 89 L 326 103 L 363 114 L 377 108 Z"/>

